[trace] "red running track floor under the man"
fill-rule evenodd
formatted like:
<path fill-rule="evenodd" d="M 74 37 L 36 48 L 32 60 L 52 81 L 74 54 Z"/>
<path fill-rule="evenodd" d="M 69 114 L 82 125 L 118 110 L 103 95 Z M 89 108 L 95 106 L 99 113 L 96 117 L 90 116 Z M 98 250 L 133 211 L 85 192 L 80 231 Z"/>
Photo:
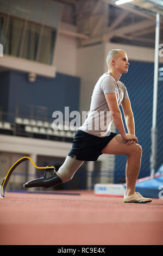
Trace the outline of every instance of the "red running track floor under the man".
<path fill-rule="evenodd" d="M 0 245 L 163 245 L 163 199 L 6 192 Z"/>

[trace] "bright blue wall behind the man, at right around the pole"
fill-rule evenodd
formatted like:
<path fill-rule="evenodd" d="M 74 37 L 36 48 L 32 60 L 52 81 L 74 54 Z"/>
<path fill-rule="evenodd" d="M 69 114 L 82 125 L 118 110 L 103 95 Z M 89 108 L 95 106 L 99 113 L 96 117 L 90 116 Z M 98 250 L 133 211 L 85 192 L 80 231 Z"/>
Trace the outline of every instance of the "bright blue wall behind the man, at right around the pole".
<path fill-rule="evenodd" d="M 128 74 L 123 74 L 121 81 L 127 87 L 135 119 L 135 133 L 142 147 L 142 163 L 139 178 L 150 174 L 151 128 L 153 111 L 153 76 L 154 64 L 147 62 L 130 62 Z M 163 81 L 158 89 L 158 147 L 156 168 L 163 162 Z M 121 108 L 122 110 L 122 108 Z M 124 120 L 124 118 L 123 118 Z M 115 182 L 125 179 L 127 156 L 116 156 Z"/>

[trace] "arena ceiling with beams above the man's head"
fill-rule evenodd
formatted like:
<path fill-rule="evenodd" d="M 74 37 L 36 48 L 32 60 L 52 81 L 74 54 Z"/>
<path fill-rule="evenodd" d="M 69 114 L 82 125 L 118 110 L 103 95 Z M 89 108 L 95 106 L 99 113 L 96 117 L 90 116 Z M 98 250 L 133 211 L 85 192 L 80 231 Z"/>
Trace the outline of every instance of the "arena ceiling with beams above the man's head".
<path fill-rule="evenodd" d="M 163 0 L 133 0 L 121 5 L 116 5 L 116 0 L 57 2 L 64 5 L 61 21 L 76 27 L 74 31 L 61 27 L 61 32 L 76 36 L 79 46 L 110 41 L 154 47 L 156 13 L 160 14 L 160 42 L 163 40 Z"/>

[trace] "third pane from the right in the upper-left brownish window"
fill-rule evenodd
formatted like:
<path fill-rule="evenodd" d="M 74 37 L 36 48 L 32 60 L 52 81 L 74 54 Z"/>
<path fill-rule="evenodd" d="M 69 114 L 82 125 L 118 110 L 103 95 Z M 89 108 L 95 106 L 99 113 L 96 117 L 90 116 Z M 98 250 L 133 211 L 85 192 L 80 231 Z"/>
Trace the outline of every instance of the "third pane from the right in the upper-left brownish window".
<path fill-rule="evenodd" d="M 4 54 L 18 56 L 24 21 L 10 17 L 4 44 Z"/>

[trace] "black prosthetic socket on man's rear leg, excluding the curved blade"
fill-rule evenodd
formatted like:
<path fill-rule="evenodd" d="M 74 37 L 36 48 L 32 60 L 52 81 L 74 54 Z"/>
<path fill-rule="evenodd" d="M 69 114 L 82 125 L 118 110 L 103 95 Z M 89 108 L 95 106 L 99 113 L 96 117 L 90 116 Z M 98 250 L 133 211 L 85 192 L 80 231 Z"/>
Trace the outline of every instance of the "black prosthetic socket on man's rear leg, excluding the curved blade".
<path fill-rule="evenodd" d="M 54 169 L 46 169 L 42 178 L 34 179 L 26 182 L 24 187 L 52 187 L 63 183 L 57 176 Z"/>

